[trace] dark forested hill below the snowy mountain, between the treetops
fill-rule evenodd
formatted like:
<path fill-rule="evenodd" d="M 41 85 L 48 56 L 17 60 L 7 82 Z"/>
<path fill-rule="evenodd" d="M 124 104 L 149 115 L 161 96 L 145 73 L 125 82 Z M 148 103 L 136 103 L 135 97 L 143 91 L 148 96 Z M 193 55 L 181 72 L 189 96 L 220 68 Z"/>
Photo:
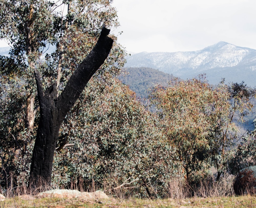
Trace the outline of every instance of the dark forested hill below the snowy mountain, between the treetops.
<path fill-rule="evenodd" d="M 137 97 L 147 98 L 148 89 L 155 85 L 167 86 L 174 79 L 172 74 L 167 74 L 147 67 L 128 67 L 123 68 L 127 74 L 119 75 L 123 84 L 129 85 L 135 91 Z"/>

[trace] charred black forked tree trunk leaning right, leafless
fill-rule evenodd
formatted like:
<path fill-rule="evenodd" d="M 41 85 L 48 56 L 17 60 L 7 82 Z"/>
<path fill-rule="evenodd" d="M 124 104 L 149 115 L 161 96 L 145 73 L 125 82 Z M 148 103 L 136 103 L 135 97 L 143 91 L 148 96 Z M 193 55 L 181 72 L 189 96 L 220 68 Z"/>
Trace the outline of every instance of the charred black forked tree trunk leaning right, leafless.
<path fill-rule="evenodd" d="M 113 40 L 108 37 L 109 32 L 103 26 L 98 42 L 74 71 L 60 96 L 57 96 L 56 85 L 43 91 L 40 75 L 35 69 L 40 120 L 30 166 L 29 187 L 32 190 L 50 187 L 60 125 L 90 78 L 107 58 L 113 44 Z"/>

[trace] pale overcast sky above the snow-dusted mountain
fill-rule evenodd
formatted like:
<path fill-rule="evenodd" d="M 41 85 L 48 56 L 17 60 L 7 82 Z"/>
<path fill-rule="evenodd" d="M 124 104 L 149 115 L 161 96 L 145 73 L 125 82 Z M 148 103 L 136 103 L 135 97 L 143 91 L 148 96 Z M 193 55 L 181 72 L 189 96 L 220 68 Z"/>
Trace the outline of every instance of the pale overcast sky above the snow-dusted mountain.
<path fill-rule="evenodd" d="M 196 51 L 219 41 L 256 49 L 255 0 L 114 0 L 112 6 L 128 52 Z"/>

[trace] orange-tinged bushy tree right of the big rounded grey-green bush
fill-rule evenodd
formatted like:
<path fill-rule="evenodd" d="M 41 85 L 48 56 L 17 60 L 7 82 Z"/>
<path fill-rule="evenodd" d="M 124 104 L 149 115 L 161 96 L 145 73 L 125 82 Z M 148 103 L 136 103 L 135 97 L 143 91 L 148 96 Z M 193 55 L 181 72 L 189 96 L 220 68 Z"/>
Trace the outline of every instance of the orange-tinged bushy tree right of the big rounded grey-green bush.
<path fill-rule="evenodd" d="M 161 127 L 176 148 L 188 181 L 209 167 L 211 92 L 199 79 L 177 81 L 167 88 L 157 86 L 152 91 L 151 101 L 159 109 Z"/>

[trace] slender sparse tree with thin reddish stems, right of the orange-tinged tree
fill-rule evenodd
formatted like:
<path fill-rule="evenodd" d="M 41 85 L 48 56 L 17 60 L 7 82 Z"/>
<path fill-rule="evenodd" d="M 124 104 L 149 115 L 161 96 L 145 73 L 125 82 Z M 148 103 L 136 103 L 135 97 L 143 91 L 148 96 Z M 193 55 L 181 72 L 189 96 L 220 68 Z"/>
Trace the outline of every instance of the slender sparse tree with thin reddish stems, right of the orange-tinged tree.
<path fill-rule="evenodd" d="M 252 111 L 252 98 L 255 98 L 255 89 L 247 87 L 244 82 L 228 86 L 223 81 L 214 89 L 216 101 L 212 104 L 212 119 L 216 126 L 213 129 L 214 140 L 211 141 L 214 144 L 211 160 L 217 169 L 217 180 L 222 174 L 230 172 L 229 163 L 241 139 L 237 125 L 243 123 L 244 117 Z M 246 132 L 243 134 L 246 135 Z"/>

